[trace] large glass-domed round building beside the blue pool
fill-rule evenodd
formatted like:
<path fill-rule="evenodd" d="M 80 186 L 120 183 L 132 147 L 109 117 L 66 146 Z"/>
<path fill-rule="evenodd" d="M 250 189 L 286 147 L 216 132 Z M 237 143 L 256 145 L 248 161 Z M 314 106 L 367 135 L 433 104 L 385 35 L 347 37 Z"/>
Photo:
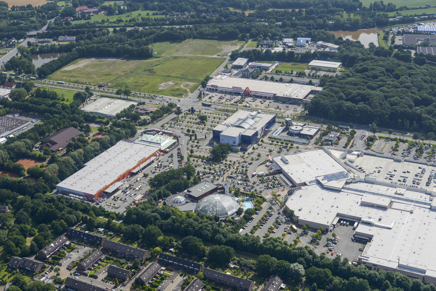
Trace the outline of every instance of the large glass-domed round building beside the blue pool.
<path fill-rule="evenodd" d="M 210 216 L 219 216 L 226 218 L 235 214 L 236 210 L 240 208 L 236 199 L 224 194 L 209 195 L 197 204 L 195 212 L 197 214 L 204 213 Z"/>

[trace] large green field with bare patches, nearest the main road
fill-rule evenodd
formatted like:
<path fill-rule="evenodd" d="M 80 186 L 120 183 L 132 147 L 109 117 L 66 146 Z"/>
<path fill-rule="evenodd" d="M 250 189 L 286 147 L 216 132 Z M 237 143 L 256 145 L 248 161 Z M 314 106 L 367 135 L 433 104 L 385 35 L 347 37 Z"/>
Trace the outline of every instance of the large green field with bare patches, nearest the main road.
<path fill-rule="evenodd" d="M 82 84 L 109 82 L 132 91 L 182 96 L 195 90 L 224 59 L 170 56 L 146 61 L 80 59 L 54 72 L 49 79 Z"/>

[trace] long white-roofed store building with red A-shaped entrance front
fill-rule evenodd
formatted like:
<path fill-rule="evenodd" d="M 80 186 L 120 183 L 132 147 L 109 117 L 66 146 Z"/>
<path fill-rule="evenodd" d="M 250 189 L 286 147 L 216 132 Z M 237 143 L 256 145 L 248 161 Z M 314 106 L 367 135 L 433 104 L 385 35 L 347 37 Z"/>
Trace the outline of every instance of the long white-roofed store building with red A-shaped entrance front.
<path fill-rule="evenodd" d="M 284 102 L 304 101 L 310 93 L 321 89 L 309 85 L 241 79 L 223 75 L 213 77 L 206 86 L 206 90 L 210 92 L 241 94 L 247 97 L 255 96 Z"/>

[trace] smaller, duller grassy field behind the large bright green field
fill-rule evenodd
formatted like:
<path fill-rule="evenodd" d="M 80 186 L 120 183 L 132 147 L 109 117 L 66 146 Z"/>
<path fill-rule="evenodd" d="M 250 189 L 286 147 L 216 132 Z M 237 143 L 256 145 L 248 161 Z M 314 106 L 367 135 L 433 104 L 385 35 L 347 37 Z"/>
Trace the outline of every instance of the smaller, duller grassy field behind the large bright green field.
<path fill-rule="evenodd" d="M 239 41 L 215 41 L 215 40 L 189 40 L 174 43 L 155 43 L 154 51 L 158 56 L 171 55 L 227 55 L 239 48 L 244 42 Z"/>

